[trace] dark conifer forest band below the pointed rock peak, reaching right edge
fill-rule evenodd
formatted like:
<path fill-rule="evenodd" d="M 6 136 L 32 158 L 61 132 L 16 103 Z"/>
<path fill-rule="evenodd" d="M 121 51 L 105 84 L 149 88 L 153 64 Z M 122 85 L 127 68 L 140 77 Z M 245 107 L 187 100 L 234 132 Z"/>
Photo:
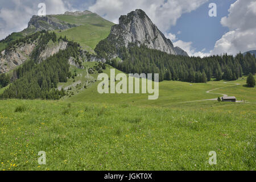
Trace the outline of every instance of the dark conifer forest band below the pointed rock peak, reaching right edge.
<path fill-rule="evenodd" d="M 159 73 L 159 81 L 179 80 L 186 82 L 207 82 L 216 80 L 237 80 L 242 75 L 255 74 L 255 57 L 217 55 L 209 57 L 186 57 L 148 49 L 146 46 L 130 44 L 128 48 L 116 48 L 107 39 L 102 40 L 95 51 L 99 57 L 125 73 Z M 122 61 L 111 59 L 118 55 Z"/>

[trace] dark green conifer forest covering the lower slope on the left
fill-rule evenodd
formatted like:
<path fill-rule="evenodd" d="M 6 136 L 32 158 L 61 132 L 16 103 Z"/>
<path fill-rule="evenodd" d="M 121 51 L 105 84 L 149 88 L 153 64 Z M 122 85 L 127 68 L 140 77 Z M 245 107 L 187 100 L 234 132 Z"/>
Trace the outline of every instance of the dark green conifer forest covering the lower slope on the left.
<path fill-rule="evenodd" d="M 60 50 L 59 53 L 42 61 L 42 63 L 38 63 L 38 56 L 46 48 L 49 40 L 67 42 L 67 39 L 60 38 L 56 40 L 54 32 L 48 33 L 46 31 L 34 35 L 39 38 L 39 44 L 32 52 L 31 59 L 16 68 L 11 78 L 5 74 L 1 75 L 0 84 L 2 86 L 6 86 L 10 80 L 13 81 L 10 87 L 1 95 L 2 98 L 58 100 L 65 95 L 63 89 L 57 90 L 57 84 L 67 82 L 67 78 L 72 76 L 69 72 L 68 59 L 71 56 L 79 55 L 79 44 L 68 42 L 65 50 Z M 28 39 L 31 40 L 31 37 L 28 36 Z M 24 41 L 24 39 L 20 39 L 20 41 Z"/>

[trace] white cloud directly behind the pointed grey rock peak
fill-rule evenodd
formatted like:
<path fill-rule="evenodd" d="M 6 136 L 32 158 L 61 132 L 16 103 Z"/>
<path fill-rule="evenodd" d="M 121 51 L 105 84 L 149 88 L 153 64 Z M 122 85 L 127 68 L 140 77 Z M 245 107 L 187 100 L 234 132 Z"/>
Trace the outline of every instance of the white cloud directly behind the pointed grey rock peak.
<path fill-rule="evenodd" d="M 118 23 L 120 15 L 142 9 L 161 31 L 166 32 L 182 14 L 196 10 L 205 2 L 208 0 L 98 0 L 89 10 Z"/>

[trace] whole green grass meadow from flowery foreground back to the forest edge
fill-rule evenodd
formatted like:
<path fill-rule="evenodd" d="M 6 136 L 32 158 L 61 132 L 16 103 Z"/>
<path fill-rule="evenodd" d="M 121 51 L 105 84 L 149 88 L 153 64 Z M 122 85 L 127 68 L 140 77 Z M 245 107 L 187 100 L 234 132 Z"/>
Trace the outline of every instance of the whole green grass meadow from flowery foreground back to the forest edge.
<path fill-rule="evenodd" d="M 76 72 L 75 81 L 85 84 L 86 69 Z M 256 92 L 245 82 L 164 81 L 155 101 L 147 94 L 98 94 L 98 81 L 74 86 L 75 95 L 60 101 L 1 100 L 0 169 L 255 170 Z M 206 93 L 216 88 L 222 89 L 212 93 L 247 102 L 197 101 L 221 96 Z M 46 165 L 38 164 L 39 151 Z M 217 165 L 209 165 L 210 151 Z"/>

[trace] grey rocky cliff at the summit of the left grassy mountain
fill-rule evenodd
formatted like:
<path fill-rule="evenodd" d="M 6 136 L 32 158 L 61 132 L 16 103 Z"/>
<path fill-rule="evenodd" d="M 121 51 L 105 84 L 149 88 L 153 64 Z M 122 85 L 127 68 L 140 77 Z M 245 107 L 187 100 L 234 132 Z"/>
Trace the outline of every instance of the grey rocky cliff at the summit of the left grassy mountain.
<path fill-rule="evenodd" d="M 30 22 L 28 22 L 28 28 L 34 28 L 36 31 L 41 31 L 41 30 L 65 30 L 68 28 L 73 28 L 77 27 L 76 24 L 69 24 L 65 22 L 60 22 L 59 19 L 47 15 L 47 16 L 32 16 L 30 19 Z"/>

